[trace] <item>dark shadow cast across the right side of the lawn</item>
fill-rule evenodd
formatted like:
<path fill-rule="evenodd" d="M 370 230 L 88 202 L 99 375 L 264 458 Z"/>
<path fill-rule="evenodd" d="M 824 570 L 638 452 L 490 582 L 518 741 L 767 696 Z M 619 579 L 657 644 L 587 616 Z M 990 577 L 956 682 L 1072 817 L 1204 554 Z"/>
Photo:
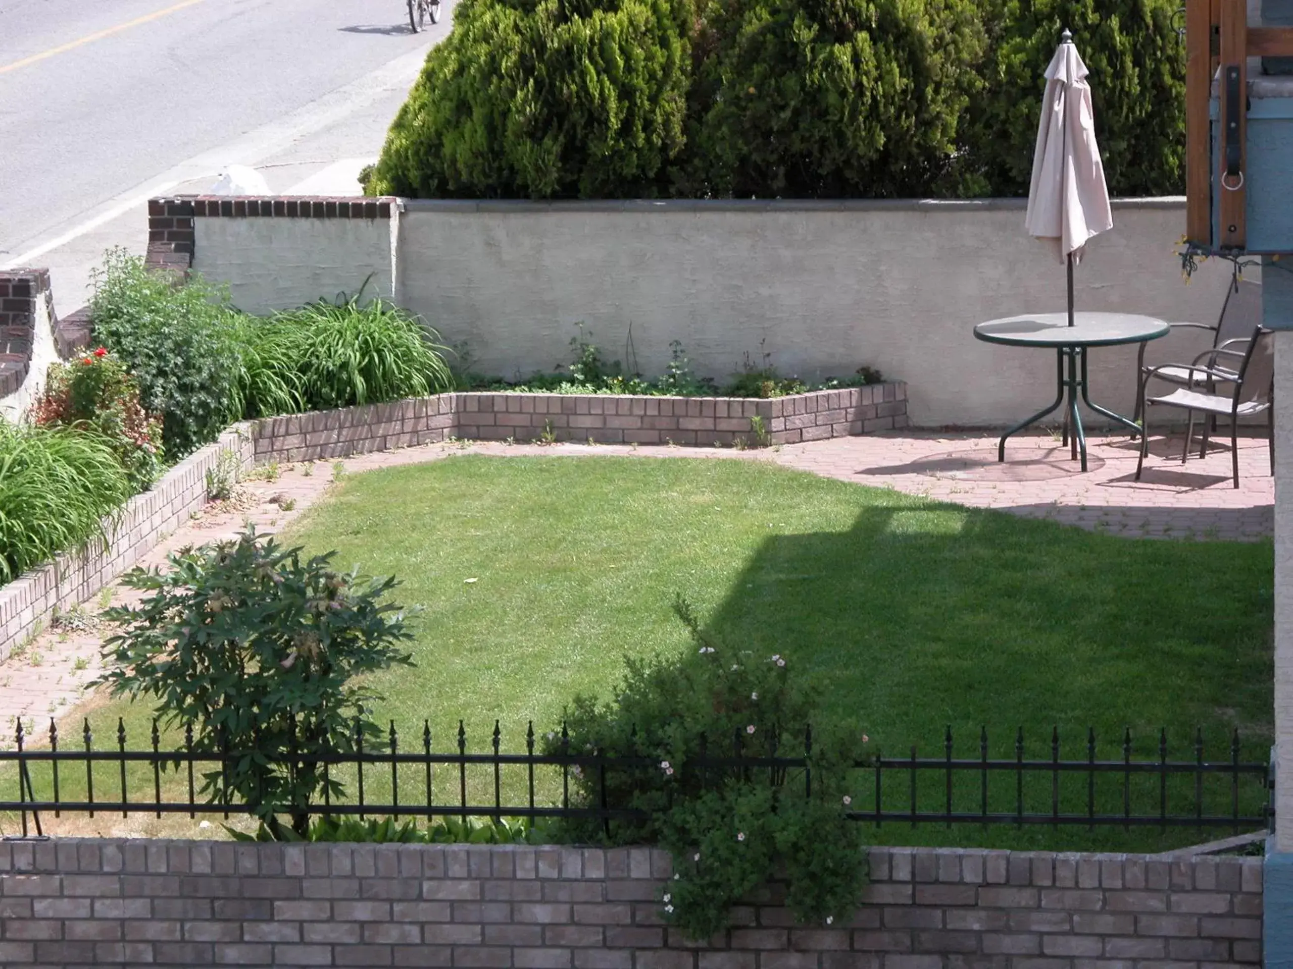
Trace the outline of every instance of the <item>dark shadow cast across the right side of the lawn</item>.
<path fill-rule="evenodd" d="M 978 757 L 987 727 L 990 756 L 1014 757 L 1023 727 L 1027 756 L 1049 758 L 1058 727 L 1060 756 L 1081 760 L 1091 727 L 1096 756 L 1116 760 L 1130 727 L 1134 757 L 1157 757 L 1164 729 L 1169 758 L 1188 761 L 1201 727 L 1208 760 L 1228 760 L 1237 727 L 1243 760 L 1265 762 L 1271 568 L 1267 547 L 1129 541 L 961 506 L 875 505 L 846 532 L 768 537 L 706 627 L 755 655 L 785 655 L 825 711 L 851 718 L 890 756 L 913 744 L 943 756 L 950 727 L 956 756 Z M 926 779 L 930 808 L 941 810 L 941 775 Z M 962 780 L 975 788 L 978 775 Z M 1049 775 L 1036 782 L 1034 809 L 1047 810 Z M 1067 796 L 1085 797 L 1085 778 L 1073 783 Z M 994 784 L 1012 796 L 1012 778 Z M 1245 802 L 1259 804 L 1252 787 Z M 1173 788 L 1169 810 L 1191 810 L 1191 792 Z M 1118 810 L 1115 779 L 1100 780 L 1100 800 Z M 1206 840 L 1012 826 L 884 832 L 896 842 L 1118 850 Z"/>

